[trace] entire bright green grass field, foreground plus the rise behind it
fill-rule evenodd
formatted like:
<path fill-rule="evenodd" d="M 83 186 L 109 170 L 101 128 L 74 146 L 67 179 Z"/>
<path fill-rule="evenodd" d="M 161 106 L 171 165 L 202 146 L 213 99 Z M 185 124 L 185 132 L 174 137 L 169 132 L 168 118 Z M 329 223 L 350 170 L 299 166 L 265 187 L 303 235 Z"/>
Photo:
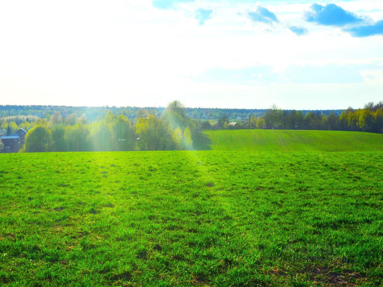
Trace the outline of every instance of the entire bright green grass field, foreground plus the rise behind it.
<path fill-rule="evenodd" d="M 323 152 L 299 131 L 304 152 L 285 152 L 291 132 L 259 152 L 255 132 L 209 131 L 206 151 L 1 154 L 0 285 L 381 285 L 381 135 L 327 132 L 348 152 Z"/>

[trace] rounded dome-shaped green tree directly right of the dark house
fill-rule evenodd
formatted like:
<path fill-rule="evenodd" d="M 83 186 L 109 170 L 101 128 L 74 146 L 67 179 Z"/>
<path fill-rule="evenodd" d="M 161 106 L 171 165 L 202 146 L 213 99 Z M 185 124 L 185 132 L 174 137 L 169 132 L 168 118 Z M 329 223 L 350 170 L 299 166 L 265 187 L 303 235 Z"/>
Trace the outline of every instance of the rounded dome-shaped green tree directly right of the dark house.
<path fill-rule="evenodd" d="M 45 126 L 34 126 L 25 135 L 23 152 L 49 152 L 51 131 Z"/>

